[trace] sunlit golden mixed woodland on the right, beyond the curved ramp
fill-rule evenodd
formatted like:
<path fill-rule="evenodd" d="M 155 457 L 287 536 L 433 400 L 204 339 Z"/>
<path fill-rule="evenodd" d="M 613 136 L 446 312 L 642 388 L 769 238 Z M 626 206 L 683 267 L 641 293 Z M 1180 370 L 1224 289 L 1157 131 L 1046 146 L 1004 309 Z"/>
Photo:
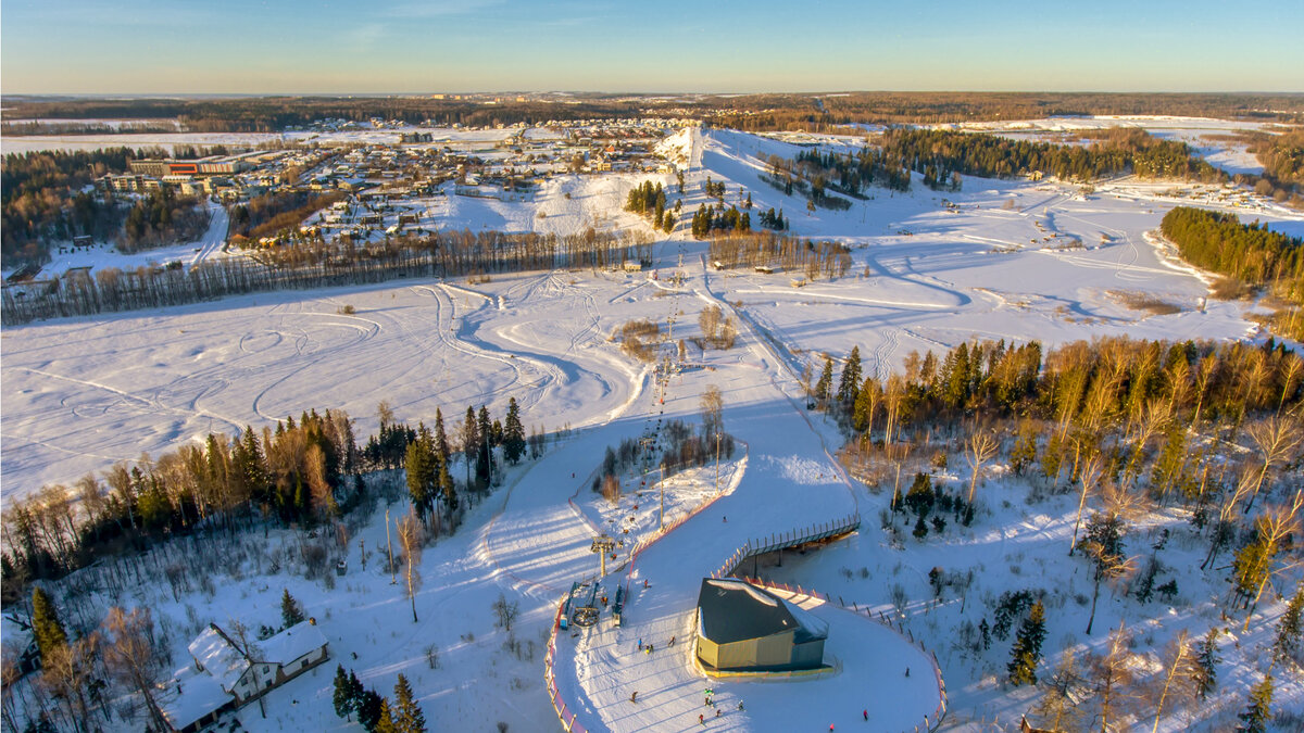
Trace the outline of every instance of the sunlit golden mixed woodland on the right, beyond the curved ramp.
<path fill-rule="evenodd" d="M 823 360 L 808 386 L 811 402 L 846 430 L 841 458 L 849 468 L 892 492 L 880 520 L 893 543 L 911 522 L 909 533 L 919 543 L 945 533 L 948 518 L 966 527 L 982 523 L 979 481 L 1004 459 L 1026 483 L 1029 503 L 1067 494 L 1077 506 L 1067 545 L 1088 570 L 1090 591 L 1077 600 L 1089 604 L 1090 635 L 1102 591 L 1138 605 L 1180 603 L 1181 574 L 1162 554 L 1170 528 L 1144 533 L 1157 507 L 1178 506 L 1189 522 L 1181 546 L 1202 541 L 1198 570 L 1226 588 L 1215 601 L 1224 621 L 1243 616 L 1236 623 L 1245 633 L 1256 618 L 1262 622 L 1256 616 L 1261 603 L 1288 599 L 1269 653 L 1277 665 L 1300 663 L 1304 587 L 1294 536 L 1304 519 L 1304 360 L 1294 351 L 1271 340 L 1110 338 L 1050 352 L 1037 342 L 970 342 L 940 356 L 911 352 L 904 373 L 885 378 L 862 376 L 858 347 L 841 361 L 838 378 L 833 360 Z M 968 481 L 944 486 L 930 468 L 945 470 L 957 458 L 968 466 Z M 1230 558 L 1219 562 L 1221 556 Z M 935 600 L 948 588 L 962 599 L 973 571 L 935 567 L 928 578 Z M 1116 724 L 1145 715 L 1124 699 L 1148 700 L 1158 724 L 1179 702 L 1198 704 L 1217 689 L 1221 625 L 1200 642 L 1179 634 L 1145 680 L 1125 626 L 1110 634 L 1103 652 L 1074 657 L 1069 648 L 1046 665 L 1046 622 L 1058 608 L 1042 603 L 1047 595 L 1064 591 L 1004 592 L 987 603 L 995 623 L 987 616 L 979 623 L 964 620 L 955 642 L 981 656 L 1017 625 L 1005 680 L 1042 685 L 1033 712 L 1054 729 L 1072 729 L 1088 713 Z M 1271 691 L 1269 670 L 1240 720 L 1261 725 Z"/>

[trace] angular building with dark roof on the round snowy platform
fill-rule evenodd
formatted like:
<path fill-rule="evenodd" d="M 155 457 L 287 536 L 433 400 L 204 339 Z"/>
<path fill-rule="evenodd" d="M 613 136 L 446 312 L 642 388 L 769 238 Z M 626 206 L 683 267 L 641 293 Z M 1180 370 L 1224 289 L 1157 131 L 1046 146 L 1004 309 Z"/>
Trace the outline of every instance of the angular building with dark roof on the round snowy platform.
<path fill-rule="evenodd" d="M 788 672 L 824 665 L 828 625 L 764 588 L 703 578 L 698 660 L 720 672 Z"/>

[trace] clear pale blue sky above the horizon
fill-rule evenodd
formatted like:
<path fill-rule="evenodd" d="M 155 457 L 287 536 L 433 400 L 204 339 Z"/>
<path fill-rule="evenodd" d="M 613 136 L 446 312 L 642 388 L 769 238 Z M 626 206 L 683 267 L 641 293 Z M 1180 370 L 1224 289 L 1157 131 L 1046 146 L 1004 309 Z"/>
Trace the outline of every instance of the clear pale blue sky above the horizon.
<path fill-rule="evenodd" d="M 1304 0 L 0 0 L 3 94 L 1304 91 Z"/>

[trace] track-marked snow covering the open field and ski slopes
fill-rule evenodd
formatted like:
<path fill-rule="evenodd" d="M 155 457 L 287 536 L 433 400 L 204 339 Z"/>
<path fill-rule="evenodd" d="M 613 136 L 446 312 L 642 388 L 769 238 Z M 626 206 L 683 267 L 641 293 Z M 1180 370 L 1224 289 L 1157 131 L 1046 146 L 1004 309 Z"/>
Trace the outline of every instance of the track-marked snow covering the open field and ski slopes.
<path fill-rule="evenodd" d="M 702 184 L 708 175 L 726 184 L 730 203 L 742 187 L 758 207 L 782 207 L 794 233 L 852 247 L 848 275 L 794 288 L 793 273 L 715 271 L 707 266 L 705 245 L 686 239 L 683 222 L 655 247 L 657 280 L 592 271 L 494 277 L 477 284 L 399 280 L 5 329 L 0 342 L 4 497 L 12 501 L 46 483 L 69 483 L 142 453 L 156 455 L 210 430 L 261 428 L 309 408 L 343 408 L 357 420 L 356 433 L 366 436 L 376 429 L 381 400 L 400 420 L 429 423 L 437 407 L 454 417 L 467 404 L 484 403 L 501 415 L 507 399 L 516 398 L 527 426 L 576 430 L 549 445 L 537 462 L 510 470 L 505 486 L 472 509 L 455 536 L 426 550 L 420 622 L 411 622 L 407 600 L 379 570 L 374 553 L 385 541 L 382 513 L 355 533 L 349 575 L 335 590 L 288 571 L 267 574 L 246 561 L 223 569 L 230 578 L 219 576 L 213 591 L 173 601 L 166 586 L 146 584 L 133 591 L 134 603 L 155 608 L 181 636 L 207 621 L 271 623 L 284 587 L 316 614 L 333 660 L 273 693 L 266 719 L 256 707 L 245 708 L 240 719 L 250 730 L 343 729 L 331 711 L 336 661 L 382 693 L 398 673 L 407 674 L 437 728 L 481 730 L 501 720 L 512 730 L 552 729 L 556 715 L 541 670 L 556 604 L 571 582 L 596 573 L 597 560 L 589 552 L 595 527 L 621 530 L 622 537 L 630 530 L 609 580 L 634 590 L 625 626 L 613 629 L 604 618 L 578 636 L 563 634 L 554 664 L 557 686 L 587 729 L 687 730 L 699 726 L 705 678 L 689 664 L 690 644 L 661 650 L 660 643 L 672 635 L 691 636 L 700 579 L 751 537 L 859 511 L 865 523 L 858 533 L 785 560 L 782 569 L 765 567 L 763 575 L 884 610 L 889 587 L 902 584 L 913 599 L 908 626 L 922 638 L 939 639 L 935 651 L 951 691 L 948 720 L 973 721 L 974 730 L 990 729 L 981 728 L 982 721 L 998 717 L 1001 725 L 1017 723 L 1029 704 L 1026 690 L 1000 689 L 992 682 L 990 660 L 948 646 L 948 629 L 961 620 L 958 605 L 949 597 L 940 605 L 925 603 L 926 574 L 932 566 L 991 571 L 996 578 L 981 587 L 999 593 L 1051 587 L 1085 573 L 1082 562 L 1063 557 L 1072 507 L 1026 506 L 1017 484 L 985 486 L 991 492 L 987 506 L 996 507 L 992 515 L 982 516 L 973 530 L 930 537 L 906 556 L 891 548 L 878 527 L 875 516 L 885 498 L 866 493 L 829 456 L 838 447 L 837 432 L 805 410 L 798 373 L 814 353 L 841 357 L 853 346 L 866 355 L 867 372 L 883 374 L 898 368 L 911 350 L 940 351 L 975 337 L 1035 338 L 1047 344 L 1115 334 L 1254 338 L 1253 325 L 1244 320 L 1247 305 L 1205 303 L 1200 274 L 1164 257 L 1146 235 L 1179 203 L 1243 217 L 1253 211 L 1254 218 L 1283 227 L 1304 226 L 1304 217 L 1208 187 L 1120 180 L 1084 194 L 1055 183 L 981 179 L 965 179 L 964 190 L 949 194 L 922 185 L 908 194 L 875 190 L 872 200 L 850 210 L 807 215 L 803 200 L 785 197 L 758 179 L 765 158 L 790 157 L 797 150 L 792 143 L 728 130 L 686 130 L 666 145 L 678 146 L 689 164 L 686 213 L 705 201 Z M 449 226 L 476 228 L 572 227 L 593 223 L 601 210 L 619 209 L 622 187 L 638 180 L 562 177 L 528 206 L 459 198 L 442 215 Z M 1179 192 L 1183 196 L 1175 196 Z M 679 194 L 668 190 L 668 197 L 673 202 Z M 943 206 L 941 198 L 955 206 Z M 540 210 L 548 215 L 539 218 Z M 614 210 L 599 224 L 642 226 Z M 188 245 L 192 254 L 194 247 Z M 682 284 L 668 284 L 674 273 L 683 275 Z M 1128 293 L 1179 310 L 1133 310 L 1124 304 Z M 343 313 L 344 305 L 353 313 Z M 672 316 L 674 338 L 691 338 L 707 305 L 721 305 L 739 318 L 738 346 L 722 352 L 690 347 L 689 361 L 698 368 L 672 376 L 662 389 L 648 368 L 609 340 L 629 320 L 665 325 Z M 591 476 L 606 446 L 644 436 L 672 417 L 695 421 L 708 385 L 721 389 L 725 429 L 739 441 L 738 454 L 721 467 L 721 496 L 715 496 L 712 468 L 677 477 L 666 492 L 668 516 L 700 511 L 662 539 L 644 543 L 631 561 L 635 543 L 655 536 L 653 497 L 647 492 L 639 497 L 631 484 L 622 503 L 610 507 L 589 492 Z M 404 510 L 395 505 L 395 511 Z M 1175 519 L 1164 522 L 1175 527 L 1174 543 L 1185 541 Z M 365 540 L 373 556 L 365 571 L 357 540 Z M 284 531 L 274 541 L 289 545 L 296 535 Z M 1197 552 L 1183 552 L 1188 550 Z M 1024 575 L 1012 575 L 1011 563 Z M 868 570 L 868 579 L 841 571 L 859 567 Z M 1183 588 L 1189 582 L 1196 593 L 1197 580 L 1181 578 Z M 532 643 L 532 650 L 503 648 L 507 634 L 493 627 L 489 610 L 499 592 L 520 603 L 512 639 Z M 970 608 L 979 596 L 969 599 Z M 1098 648 L 1104 634 L 1077 635 L 1082 609 L 1071 593 L 1061 596 L 1048 646 L 1058 650 L 1072 639 Z M 1140 609 L 1102 596 L 1098 629 L 1127 620 L 1142 644 L 1158 648 L 1181 626 L 1198 633 L 1215 621 L 1211 603 L 1191 600 L 1197 610 L 1176 617 L 1158 605 Z M 828 651 L 842 660 L 841 672 L 784 683 L 715 682 L 724 713 L 707 726 L 844 729 L 863 725 L 861 711 L 870 708 L 878 716 L 872 729 L 910 729 L 935 710 L 938 691 L 923 673 L 922 652 L 833 604 L 802 603 L 831 622 Z M 1262 636 L 1237 638 L 1244 651 L 1228 648 L 1228 661 L 1248 670 Z M 656 639 L 659 651 L 639 653 L 639 638 Z M 188 638 L 177 640 L 184 646 Z M 438 669 L 426 665 L 428 644 L 441 650 Z M 900 660 L 917 653 L 921 665 L 914 676 L 895 672 L 914 668 Z M 992 659 L 998 656 L 994 651 Z M 891 664 L 866 668 L 865 659 Z M 184 663 L 181 655 L 175 661 Z M 1243 699 L 1251 682 L 1248 672 L 1232 674 L 1224 687 L 1228 699 Z M 634 690 L 636 704 L 629 702 Z M 1277 699 L 1299 710 L 1304 685 L 1283 682 Z M 743 710 L 737 710 L 738 702 Z M 1164 724 L 1167 730 L 1181 728 L 1176 719 Z"/>

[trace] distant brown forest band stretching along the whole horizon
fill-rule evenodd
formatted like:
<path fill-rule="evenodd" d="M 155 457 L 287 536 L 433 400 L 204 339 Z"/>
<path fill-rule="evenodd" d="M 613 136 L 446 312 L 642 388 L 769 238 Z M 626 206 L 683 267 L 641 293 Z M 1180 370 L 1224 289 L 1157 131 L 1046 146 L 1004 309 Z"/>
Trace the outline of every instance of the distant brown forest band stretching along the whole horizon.
<path fill-rule="evenodd" d="M 905 93 L 742 97 L 574 95 L 565 102 L 430 97 L 248 97 L 231 99 L 5 99 L 16 119 L 179 119 L 192 132 L 279 132 L 323 117 L 493 125 L 595 117 L 683 116 L 745 130 L 829 130 L 854 123 L 1009 120 L 1050 115 L 1192 115 L 1299 121 L 1300 94 Z"/>

